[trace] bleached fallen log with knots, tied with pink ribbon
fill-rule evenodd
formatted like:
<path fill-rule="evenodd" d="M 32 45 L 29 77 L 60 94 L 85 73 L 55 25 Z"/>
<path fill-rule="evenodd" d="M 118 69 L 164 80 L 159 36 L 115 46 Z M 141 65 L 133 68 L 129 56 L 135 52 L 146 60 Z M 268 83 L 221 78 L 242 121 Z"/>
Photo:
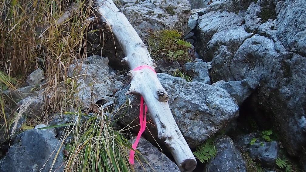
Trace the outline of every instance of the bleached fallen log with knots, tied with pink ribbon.
<path fill-rule="evenodd" d="M 135 29 L 112 0 L 96 0 L 96 3 L 98 12 L 111 28 L 125 53 L 126 57 L 121 62 L 127 63 L 131 69 L 128 73 L 131 78 L 131 87 L 126 94 L 144 97 L 151 118 L 157 127 L 159 139 L 169 148 L 181 171 L 192 171 L 196 167 L 196 159 L 173 118 L 167 102 L 169 96 L 157 75 L 150 68 L 133 71 L 145 65 L 154 69 L 155 61 L 152 60 Z"/>

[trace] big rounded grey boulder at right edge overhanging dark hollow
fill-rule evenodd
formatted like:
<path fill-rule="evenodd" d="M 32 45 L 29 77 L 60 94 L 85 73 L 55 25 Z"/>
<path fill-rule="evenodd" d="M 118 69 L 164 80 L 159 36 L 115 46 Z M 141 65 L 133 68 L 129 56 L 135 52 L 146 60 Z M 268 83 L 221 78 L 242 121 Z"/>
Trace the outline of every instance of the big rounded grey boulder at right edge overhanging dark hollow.
<path fill-rule="evenodd" d="M 254 35 L 241 45 L 231 63 L 231 73 L 236 80 L 251 78 L 259 82 L 258 96 L 252 97 L 253 107 L 265 109 L 273 117 L 275 126 L 285 136 L 280 137 L 283 146 L 292 155 L 300 154 L 306 145 L 302 122 L 306 104 L 304 59 L 286 52 L 279 41 L 274 43 L 269 38 Z"/>

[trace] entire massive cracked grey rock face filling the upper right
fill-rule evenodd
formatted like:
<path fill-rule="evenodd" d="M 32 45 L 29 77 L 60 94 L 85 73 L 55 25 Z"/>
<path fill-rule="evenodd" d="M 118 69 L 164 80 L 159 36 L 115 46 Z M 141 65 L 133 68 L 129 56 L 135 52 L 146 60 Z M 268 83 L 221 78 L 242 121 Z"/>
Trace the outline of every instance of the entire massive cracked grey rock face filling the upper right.
<path fill-rule="evenodd" d="M 252 114 L 262 127 L 276 126 L 282 145 L 305 162 L 306 1 L 232 4 L 217 0 L 196 12 L 196 50 L 212 61 L 213 82 L 259 82 L 248 100 Z"/>

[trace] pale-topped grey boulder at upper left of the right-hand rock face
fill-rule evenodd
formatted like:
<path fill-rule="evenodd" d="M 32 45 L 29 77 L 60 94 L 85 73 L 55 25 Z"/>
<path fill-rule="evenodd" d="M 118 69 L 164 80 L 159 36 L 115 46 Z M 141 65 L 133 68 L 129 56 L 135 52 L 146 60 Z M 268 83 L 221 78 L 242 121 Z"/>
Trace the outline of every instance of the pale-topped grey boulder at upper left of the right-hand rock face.
<path fill-rule="evenodd" d="M 211 61 L 217 56 L 217 50 L 225 45 L 230 52 L 235 52 L 243 41 L 252 36 L 244 31 L 243 13 L 238 15 L 226 11 L 204 14 L 198 19 L 196 51 L 204 61 Z M 212 67 L 213 67 L 212 63 Z M 214 68 L 212 68 L 214 70 Z"/>

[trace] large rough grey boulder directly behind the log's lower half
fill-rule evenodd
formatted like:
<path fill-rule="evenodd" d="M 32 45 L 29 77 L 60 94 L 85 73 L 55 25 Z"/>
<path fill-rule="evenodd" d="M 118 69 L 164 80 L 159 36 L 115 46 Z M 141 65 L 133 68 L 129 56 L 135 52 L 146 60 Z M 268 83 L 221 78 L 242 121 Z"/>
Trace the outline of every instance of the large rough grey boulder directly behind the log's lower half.
<path fill-rule="evenodd" d="M 171 112 L 190 148 L 197 147 L 238 116 L 238 106 L 226 90 L 201 82 L 186 82 L 182 78 L 167 74 L 157 75 L 170 95 L 168 102 Z M 126 96 L 127 90 L 128 88 L 115 94 L 117 101 L 115 108 L 131 103 L 132 108 L 129 106 L 127 109 L 122 109 L 118 115 L 129 114 L 122 117 L 123 123 L 136 126 L 139 124 L 139 120 L 136 119 L 139 116 L 139 97 Z M 134 119 L 136 120 L 133 121 Z M 148 112 L 147 121 L 150 120 Z M 147 128 L 153 137 L 157 138 L 156 127 L 148 123 Z M 133 129 L 138 132 L 139 127 Z M 148 130 L 145 130 L 144 136 L 151 135 Z"/>

